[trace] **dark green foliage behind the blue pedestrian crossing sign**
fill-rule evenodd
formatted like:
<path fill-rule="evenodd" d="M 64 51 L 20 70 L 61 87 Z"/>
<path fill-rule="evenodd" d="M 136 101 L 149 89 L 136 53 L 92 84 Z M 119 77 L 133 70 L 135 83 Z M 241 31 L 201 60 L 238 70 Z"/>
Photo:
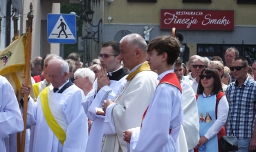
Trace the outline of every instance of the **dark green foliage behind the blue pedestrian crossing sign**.
<path fill-rule="evenodd" d="M 69 14 L 70 12 L 75 12 L 77 16 L 80 16 L 81 10 L 82 10 L 82 3 L 61 3 L 60 4 L 60 12 L 62 14 Z M 77 37 L 82 37 L 82 24 L 83 24 L 82 19 L 77 19 L 76 24 L 78 27 Z M 64 44 L 64 59 L 67 59 L 70 53 L 80 53 L 77 50 L 77 43 Z M 80 53 L 81 60 L 83 59 L 82 54 L 83 53 Z"/>

